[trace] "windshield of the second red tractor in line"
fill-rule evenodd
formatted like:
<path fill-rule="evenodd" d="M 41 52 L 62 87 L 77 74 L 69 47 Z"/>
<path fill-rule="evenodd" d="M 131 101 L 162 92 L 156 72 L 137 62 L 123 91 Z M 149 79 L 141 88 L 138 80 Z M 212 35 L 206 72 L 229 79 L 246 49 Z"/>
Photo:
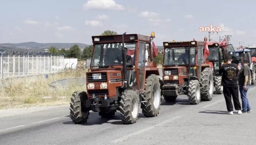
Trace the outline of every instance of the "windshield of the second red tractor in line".
<path fill-rule="evenodd" d="M 190 48 L 190 63 L 195 63 L 195 47 Z M 189 47 L 165 48 L 164 65 L 189 64 Z"/>

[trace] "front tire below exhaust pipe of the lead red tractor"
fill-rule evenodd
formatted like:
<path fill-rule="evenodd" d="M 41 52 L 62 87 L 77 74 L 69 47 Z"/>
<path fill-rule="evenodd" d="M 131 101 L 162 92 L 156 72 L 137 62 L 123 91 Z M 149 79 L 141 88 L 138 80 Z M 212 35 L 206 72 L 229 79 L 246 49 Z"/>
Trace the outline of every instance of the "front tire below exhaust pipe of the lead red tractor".
<path fill-rule="evenodd" d="M 125 90 L 121 94 L 120 115 L 124 124 L 136 123 L 138 118 L 138 95 L 134 90 Z"/>

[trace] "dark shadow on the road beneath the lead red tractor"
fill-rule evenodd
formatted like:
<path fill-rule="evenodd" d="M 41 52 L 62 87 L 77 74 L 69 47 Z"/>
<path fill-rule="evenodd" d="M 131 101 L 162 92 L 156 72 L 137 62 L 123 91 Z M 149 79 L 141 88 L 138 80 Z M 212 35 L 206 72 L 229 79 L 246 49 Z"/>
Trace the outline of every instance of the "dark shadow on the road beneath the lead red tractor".
<path fill-rule="evenodd" d="M 145 118 L 145 116 L 142 113 L 139 113 L 138 120 L 140 118 Z M 89 119 L 87 120 L 87 123 L 84 123 L 81 125 L 101 125 L 103 123 L 110 123 L 110 124 L 114 124 L 114 125 L 123 125 L 119 112 L 116 112 L 115 116 L 107 117 L 107 118 L 103 118 L 103 117 L 99 116 L 99 113 L 90 112 Z M 74 123 L 72 122 L 71 119 L 70 119 L 70 121 L 63 122 L 63 124 L 74 125 Z"/>

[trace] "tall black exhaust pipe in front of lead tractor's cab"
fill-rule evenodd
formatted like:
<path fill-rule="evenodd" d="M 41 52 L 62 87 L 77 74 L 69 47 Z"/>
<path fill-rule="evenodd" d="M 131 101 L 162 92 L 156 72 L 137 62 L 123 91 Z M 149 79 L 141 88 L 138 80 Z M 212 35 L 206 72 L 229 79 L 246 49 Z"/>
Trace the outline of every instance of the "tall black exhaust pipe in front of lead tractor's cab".
<path fill-rule="evenodd" d="M 126 67 L 126 51 L 125 51 L 125 33 L 122 34 L 122 61 L 123 61 L 123 74 L 124 74 L 124 88 L 127 88 L 127 67 Z"/>

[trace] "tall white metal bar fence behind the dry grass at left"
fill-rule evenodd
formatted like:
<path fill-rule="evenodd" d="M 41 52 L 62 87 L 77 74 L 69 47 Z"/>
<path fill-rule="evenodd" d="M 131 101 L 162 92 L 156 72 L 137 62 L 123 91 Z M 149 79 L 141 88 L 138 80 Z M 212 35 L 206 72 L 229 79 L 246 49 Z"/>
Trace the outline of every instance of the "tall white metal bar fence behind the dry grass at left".
<path fill-rule="evenodd" d="M 0 52 L 0 78 L 49 74 L 64 70 L 64 56 L 47 52 Z"/>

